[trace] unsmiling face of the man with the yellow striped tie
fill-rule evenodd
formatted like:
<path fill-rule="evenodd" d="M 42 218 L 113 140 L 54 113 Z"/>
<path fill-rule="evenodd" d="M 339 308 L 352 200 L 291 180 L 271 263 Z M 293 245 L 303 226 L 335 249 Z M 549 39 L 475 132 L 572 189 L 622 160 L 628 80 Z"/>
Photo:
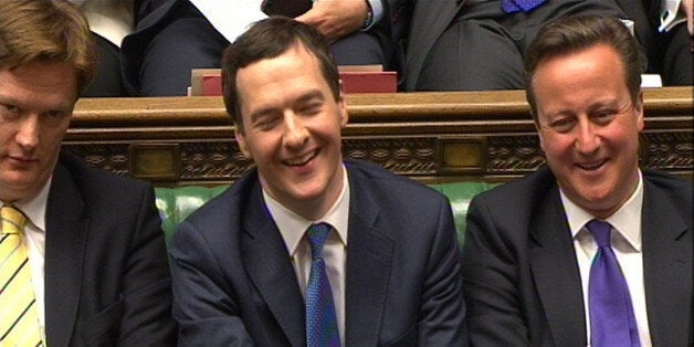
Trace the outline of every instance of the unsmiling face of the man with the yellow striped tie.
<path fill-rule="evenodd" d="M 0 69 L 0 199 L 32 198 L 51 177 L 76 91 L 75 70 L 61 63 Z"/>

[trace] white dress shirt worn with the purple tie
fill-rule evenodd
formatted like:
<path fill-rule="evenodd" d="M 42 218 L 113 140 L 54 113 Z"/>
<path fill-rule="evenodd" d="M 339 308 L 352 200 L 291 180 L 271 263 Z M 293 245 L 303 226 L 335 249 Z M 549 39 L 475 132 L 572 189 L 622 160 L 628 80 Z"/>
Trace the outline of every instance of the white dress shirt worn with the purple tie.
<path fill-rule="evenodd" d="M 566 212 L 574 249 L 581 275 L 583 291 L 583 306 L 586 312 L 586 330 L 588 346 L 590 346 L 590 306 L 588 303 L 588 282 L 590 278 L 590 265 L 598 251 L 592 234 L 585 225 L 595 219 L 590 213 L 571 202 L 564 191 L 561 202 Z M 643 249 L 641 244 L 641 208 L 643 206 L 643 180 L 639 171 L 639 183 L 629 200 L 606 221 L 612 225 L 612 250 L 622 270 L 622 274 L 629 286 L 629 294 L 637 318 L 641 346 L 652 346 L 649 320 L 645 307 L 645 290 L 643 282 Z"/>

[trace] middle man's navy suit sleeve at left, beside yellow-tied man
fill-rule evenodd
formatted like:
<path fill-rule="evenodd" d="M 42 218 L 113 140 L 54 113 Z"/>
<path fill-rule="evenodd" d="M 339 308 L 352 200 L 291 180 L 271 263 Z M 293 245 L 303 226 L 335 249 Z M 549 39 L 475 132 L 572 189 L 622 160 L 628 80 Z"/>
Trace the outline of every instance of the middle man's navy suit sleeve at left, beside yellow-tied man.
<path fill-rule="evenodd" d="M 174 317 L 179 323 L 179 346 L 253 346 L 208 241 L 188 221 L 174 235 Z"/>

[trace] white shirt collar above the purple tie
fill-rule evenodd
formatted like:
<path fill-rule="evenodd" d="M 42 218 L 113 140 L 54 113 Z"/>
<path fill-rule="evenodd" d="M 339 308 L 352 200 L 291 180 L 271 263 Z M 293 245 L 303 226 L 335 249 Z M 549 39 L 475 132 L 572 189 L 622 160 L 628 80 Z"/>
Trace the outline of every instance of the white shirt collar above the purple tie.
<path fill-rule="evenodd" d="M 595 217 L 588 213 L 586 210 L 574 203 L 559 188 L 561 196 L 561 203 L 564 204 L 564 211 L 569 223 L 571 231 L 571 238 L 576 238 L 577 234 L 583 229 L 586 223 L 595 219 Z M 641 209 L 643 206 L 643 178 L 641 170 L 639 170 L 639 182 L 637 189 L 633 191 L 629 200 L 614 212 L 612 215 L 606 219 L 612 225 L 612 229 L 624 239 L 627 242 L 638 252 L 641 252 Z"/>

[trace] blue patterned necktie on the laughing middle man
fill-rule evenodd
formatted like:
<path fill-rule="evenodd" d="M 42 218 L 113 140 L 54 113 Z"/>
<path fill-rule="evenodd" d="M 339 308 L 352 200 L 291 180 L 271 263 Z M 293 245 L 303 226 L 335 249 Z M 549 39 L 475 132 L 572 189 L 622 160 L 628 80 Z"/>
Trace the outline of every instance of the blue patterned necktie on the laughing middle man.
<path fill-rule="evenodd" d="M 339 346 L 339 332 L 330 281 L 325 272 L 323 245 L 330 233 L 326 223 L 313 224 L 306 232 L 311 244 L 311 274 L 306 286 L 306 346 Z"/>

